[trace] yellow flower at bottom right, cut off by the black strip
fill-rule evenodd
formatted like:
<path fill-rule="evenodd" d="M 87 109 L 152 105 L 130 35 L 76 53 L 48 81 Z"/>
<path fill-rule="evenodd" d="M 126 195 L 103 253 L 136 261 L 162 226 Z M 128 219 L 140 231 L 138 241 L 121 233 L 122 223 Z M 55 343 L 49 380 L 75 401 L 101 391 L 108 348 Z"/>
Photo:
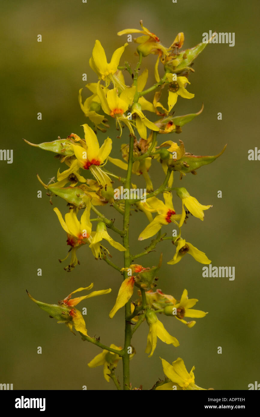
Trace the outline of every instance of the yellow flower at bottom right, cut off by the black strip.
<path fill-rule="evenodd" d="M 162 359 L 162 358 L 160 358 Z M 173 389 L 173 384 L 176 384 L 177 389 L 191 389 L 191 390 L 199 390 L 204 388 L 198 387 L 194 383 L 194 369 L 188 373 L 187 369 L 184 365 L 184 362 L 181 358 L 176 359 L 176 361 L 172 362 L 172 365 L 169 364 L 166 360 L 162 359 L 162 366 L 164 369 L 164 374 L 170 381 L 166 384 L 163 384 L 156 388 L 156 390 L 171 390 Z"/>

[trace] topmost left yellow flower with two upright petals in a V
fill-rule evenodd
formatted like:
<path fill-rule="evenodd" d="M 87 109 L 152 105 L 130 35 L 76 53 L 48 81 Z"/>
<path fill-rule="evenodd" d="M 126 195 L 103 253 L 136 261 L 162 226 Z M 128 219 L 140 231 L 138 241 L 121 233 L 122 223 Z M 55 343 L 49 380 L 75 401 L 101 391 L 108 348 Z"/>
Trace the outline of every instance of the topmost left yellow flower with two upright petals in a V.
<path fill-rule="evenodd" d="M 124 90 L 125 86 L 121 84 L 115 73 L 117 71 L 121 55 L 127 45 L 128 43 L 125 43 L 124 46 L 116 49 L 112 55 L 110 63 L 108 63 L 106 60 L 106 53 L 100 41 L 96 40 L 92 51 L 92 57 L 89 60 L 89 65 L 91 69 L 98 75 L 98 78 L 106 82 L 106 86 L 112 82 L 114 86 L 119 86 L 119 88 Z"/>

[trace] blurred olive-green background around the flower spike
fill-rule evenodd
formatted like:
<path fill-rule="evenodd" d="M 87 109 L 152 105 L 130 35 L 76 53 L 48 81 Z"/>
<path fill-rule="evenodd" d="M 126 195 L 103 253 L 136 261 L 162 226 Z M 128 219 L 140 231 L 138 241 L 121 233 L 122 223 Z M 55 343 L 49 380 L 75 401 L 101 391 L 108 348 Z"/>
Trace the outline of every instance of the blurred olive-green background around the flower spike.
<path fill-rule="evenodd" d="M 166 294 L 179 299 L 184 288 L 189 297 L 199 299 L 196 307 L 209 314 L 197 319 L 188 329 L 171 317 L 159 317 L 167 330 L 180 342 L 178 348 L 158 340 L 153 357 L 144 353 L 148 327 L 142 324 L 134 334 L 136 356 L 131 361 L 131 382 L 149 389 L 163 378 L 160 357 L 172 362 L 182 357 L 188 371 L 195 365 L 195 382 L 215 389 L 247 389 L 259 381 L 259 161 L 248 161 L 247 152 L 258 145 L 255 121 L 258 116 L 259 54 L 257 53 L 257 15 L 259 2 L 221 0 L 171 0 L 121 2 L 118 0 L 10 1 L 1 6 L 1 148 L 13 149 L 13 164 L 0 162 L 2 178 L 1 213 L 1 342 L 0 382 L 13 383 L 14 389 L 114 389 L 103 379 L 101 367 L 89 369 L 87 363 L 101 350 L 56 324 L 27 297 L 25 289 L 41 301 L 56 303 L 79 286 L 92 281 L 94 289 L 112 288 L 109 295 L 82 302 L 87 307 L 88 333 L 101 337 L 105 344 L 123 344 L 124 312 L 113 320 L 108 314 L 114 305 L 121 276 L 103 261 L 93 259 L 88 248 L 78 251 L 81 265 L 71 273 L 63 270 L 66 261 L 66 234 L 61 229 L 53 207 L 66 211 L 66 203 L 48 197 L 38 183 L 56 176 L 60 166 L 52 153 L 32 148 L 22 138 L 34 143 L 65 138 L 71 132 L 82 135 L 82 123 L 89 123 L 78 105 L 78 90 L 86 82 L 95 82 L 88 60 L 96 39 L 113 51 L 126 42 L 117 31 L 139 28 L 139 20 L 169 46 L 178 32 L 185 35 L 184 48 L 202 41 L 209 30 L 235 32 L 235 46 L 208 45 L 195 61 L 195 73 L 188 90 L 194 99 L 179 98 L 176 115 L 193 113 L 204 103 L 202 115 L 184 126 L 181 135 L 160 137 L 182 139 L 185 148 L 197 155 L 214 155 L 228 143 L 224 155 L 212 165 L 188 174 L 176 186 L 184 186 L 203 204 L 213 204 L 202 223 L 192 217 L 183 227 L 182 236 L 212 260 L 213 266 L 235 266 L 235 280 L 202 278 L 202 265 L 185 256 L 176 266 L 169 242 L 140 259 L 144 266 L 157 264 L 160 251 L 164 263 L 159 285 Z M 42 35 L 42 43 L 37 35 Z M 123 60 L 136 62 L 135 44 L 126 48 Z M 143 60 L 143 67 L 155 62 Z M 151 67 L 150 67 L 151 68 Z M 161 68 L 162 70 L 162 68 Z M 129 82 L 129 79 L 126 77 Z M 154 83 L 150 70 L 149 85 Z M 259 91 L 259 90 L 258 90 Z M 42 113 L 42 121 L 37 113 Z M 217 113 L 222 112 L 222 121 Z M 121 140 L 111 128 L 112 156 L 119 157 Z M 126 135 L 126 134 L 125 134 Z M 106 134 L 98 136 L 103 143 Z M 62 166 L 62 169 L 64 167 Z M 119 172 L 118 168 L 110 168 Z M 162 181 L 159 164 L 151 168 L 154 186 Z M 144 187 L 144 182 L 134 178 Z M 138 182 L 141 181 L 141 182 Z M 37 191 L 43 198 L 37 198 Z M 222 198 L 217 198 L 217 191 Z M 174 197 L 180 210 L 180 201 Z M 109 208 L 103 211 L 110 218 Z M 111 213 L 111 214 L 110 214 Z M 119 217 L 116 216 L 119 225 Z M 132 252 L 143 250 L 138 242 L 146 218 L 131 217 Z M 165 226 L 168 233 L 171 226 Z M 112 233 L 115 238 L 114 234 Z M 148 242 L 147 242 L 148 243 Z M 112 248 L 113 260 L 122 264 L 121 253 Z M 42 268 L 42 276 L 37 269 Z M 37 354 L 37 347 L 42 354 Z M 217 347 L 222 354 L 217 354 Z M 117 372 L 121 378 L 121 363 Z"/>

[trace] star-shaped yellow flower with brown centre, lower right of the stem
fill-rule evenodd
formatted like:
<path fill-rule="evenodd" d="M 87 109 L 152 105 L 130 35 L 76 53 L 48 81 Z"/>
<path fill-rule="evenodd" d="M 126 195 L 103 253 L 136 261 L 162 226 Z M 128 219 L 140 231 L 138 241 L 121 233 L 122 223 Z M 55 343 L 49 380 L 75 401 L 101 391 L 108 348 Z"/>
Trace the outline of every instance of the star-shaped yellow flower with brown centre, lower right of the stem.
<path fill-rule="evenodd" d="M 205 317 L 207 314 L 205 311 L 194 310 L 190 308 L 193 307 L 197 301 L 198 300 L 196 298 L 188 299 L 188 291 L 187 289 L 184 289 L 179 303 L 174 303 L 172 306 L 166 306 L 164 309 L 164 314 L 167 316 L 174 315 L 174 317 L 176 317 L 176 319 L 178 319 L 180 322 L 186 324 L 188 327 L 193 327 L 196 322 L 194 320 L 191 322 L 186 322 L 183 317 L 201 318 Z"/>

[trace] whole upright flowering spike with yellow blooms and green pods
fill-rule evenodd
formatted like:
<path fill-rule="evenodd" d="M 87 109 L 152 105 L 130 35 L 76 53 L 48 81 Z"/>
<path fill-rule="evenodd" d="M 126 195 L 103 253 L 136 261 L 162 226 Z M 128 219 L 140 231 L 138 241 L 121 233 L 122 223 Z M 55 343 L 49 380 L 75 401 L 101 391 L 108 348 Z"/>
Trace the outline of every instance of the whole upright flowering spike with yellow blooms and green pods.
<path fill-rule="evenodd" d="M 70 247 L 65 259 L 71 255 L 71 261 L 64 269 L 72 271 L 79 264 L 77 251 L 83 247 L 95 259 L 102 259 L 118 273 L 120 282 L 109 317 L 112 319 L 117 311 L 125 307 L 125 340 L 121 343 L 124 347 L 118 347 L 114 343 L 106 346 L 101 344 L 99 338 L 89 337 L 83 316 L 75 308 L 83 299 L 108 294 L 110 288 L 72 299 L 72 294 L 89 290 L 93 284 L 81 287 L 57 305 L 42 303 L 28 295 L 41 309 L 47 311 L 50 317 L 54 317 L 59 323 L 65 323 L 71 332 L 74 328 L 81 333 L 84 340 L 103 349 L 102 353 L 88 363 L 88 367 L 103 366 L 104 378 L 106 381 L 112 379 L 117 389 L 121 389 L 121 385 L 115 376 L 115 370 L 121 359 L 124 378 L 122 387 L 132 389 L 129 359 L 134 356 L 135 350 L 131 345 L 131 338 L 144 321 L 148 325 L 148 329 L 143 326 L 146 328 L 146 334 L 148 332 L 144 350 L 151 357 L 158 338 L 173 347 L 182 345 L 181 335 L 177 334 L 177 322 L 174 320 L 176 330 L 170 327 L 169 333 L 158 319 L 158 314 L 162 314 L 165 320 L 175 317 L 188 328 L 192 328 L 196 322 L 186 321 L 186 317 L 202 318 L 207 314 L 192 308 L 198 300 L 189 299 L 186 289 L 179 301 L 170 294 L 164 294 L 161 289 L 156 289 L 162 254 L 157 266 L 144 267 L 135 262 L 141 256 L 154 251 L 157 244 L 162 245 L 161 242 L 166 241 L 165 244 L 174 246 L 172 259 L 166 259 L 169 265 L 177 264 L 186 254 L 201 264 L 211 263 L 204 252 L 182 236 L 187 229 L 187 222 L 192 224 L 193 221 L 197 222 L 197 219 L 203 221 L 204 211 L 212 205 L 199 203 L 184 187 L 173 187 L 174 172 L 178 171 L 181 179 L 184 176 L 182 182 L 187 181 L 187 173 L 196 174 L 198 168 L 215 161 L 226 148 L 225 146 L 215 156 L 197 156 L 186 151 L 182 140 L 179 140 L 179 144 L 173 141 L 174 134 L 182 133 L 182 128 L 203 111 L 202 106 L 197 113 L 175 115 L 180 100 L 194 98 L 192 87 L 189 87 L 189 76 L 194 72 L 194 60 L 207 43 L 199 43 L 194 48 L 182 50 L 184 33 L 180 32 L 173 37 L 170 46 L 165 47 L 159 37 L 143 25 L 142 20 L 140 25 L 140 29 L 130 28 L 118 32 L 119 36 L 137 35 L 134 38 L 135 54 L 138 55 L 135 69 L 123 59 L 128 42 L 115 49 L 108 62 L 109 54 L 105 52 L 99 40 L 95 41 L 89 65 L 96 74 L 96 80 L 86 84 L 86 90 L 80 88 L 78 95 L 80 108 L 88 118 L 88 123 L 81 125 L 84 137 L 78 136 L 81 131 L 79 128 L 78 133 L 68 134 L 64 139 L 58 137 L 57 140 L 38 145 L 25 140 L 30 146 L 55 153 L 56 162 L 65 165 L 65 169 L 55 168 L 57 175 L 48 183 L 43 182 L 37 175 L 41 185 L 47 190 L 51 204 L 57 196 L 64 201 L 61 211 L 56 204 L 53 208 L 62 229 L 66 232 L 64 240 Z M 149 55 L 154 58 L 152 68 L 150 65 L 149 68 L 146 68 L 148 65 L 143 65 L 143 60 Z M 121 65 L 120 61 L 124 64 Z M 151 83 L 151 74 L 155 83 Z M 183 100 L 183 103 L 185 102 L 186 100 Z M 97 137 L 97 134 L 102 135 L 108 131 L 110 126 L 115 126 L 118 136 L 111 131 L 109 136 L 106 134 L 103 138 Z M 121 142 L 123 133 L 126 133 L 127 140 L 129 137 L 128 143 Z M 161 134 L 169 135 L 169 139 L 165 140 L 163 136 L 164 139 L 161 140 Z M 158 169 L 159 163 L 162 169 Z M 152 178 L 154 167 L 157 169 L 157 177 L 160 173 L 164 175 L 158 188 L 154 187 L 158 183 L 157 178 Z M 132 178 L 133 174 L 136 176 L 135 179 L 140 180 L 141 188 L 138 188 L 139 185 Z M 42 174 L 40 175 L 42 177 Z M 116 190 L 120 187 L 127 192 L 119 199 Z M 131 197 L 133 193 L 131 196 L 128 193 L 130 188 L 135 191 L 135 198 Z M 173 191 L 176 194 L 172 193 Z M 64 212 L 65 206 L 66 214 L 63 215 L 62 210 Z M 101 212 L 104 208 L 105 211 Z M 107 217 L 105 213 L 109 209 L 113 210 L 116 216 L 111 214 Z M 140 230 L 134 225 L 136 211 L 141 211 L 142 215 L 146 216 Z M 191 219 L 189 215 L 192 216 Z M 175 234 L 172 234 L 173 225 L 176 227 Z M 169 236 L 166 237 L 167 233 Z M 136 238 L 134 250 L 130 247 L 129 235 Z M 134 254 L 138 241 L 151 238 L 141 253 Z M 109 247 L 111 254 L 106 247 L 108 243 L 112 247 Z M 111 260 L 114 253 L 121 256 L 118 264 L 115 264 L 114 259 Z M 184 261 L 182 264 L 184 265 Z M 85 269 L 86 273 L 90 273 L 88 268 Z M 84 268 L 81 271 L 83 272 Z M 91 271 L 93 276 L 95 273 L 98 275 L 98 270 Z M 106 274 L 106 281 L 111 278 L 111 275 Z M 203 389 L 194 383 L 194 367 L 188 373 L 182 359 L 178 358 L 172 365 L 162 359 L 162 364 L 166 380 L 164 383 L 157 383 L 155 389 L 172 389 L 173 385 L 176 389 Z"/>

